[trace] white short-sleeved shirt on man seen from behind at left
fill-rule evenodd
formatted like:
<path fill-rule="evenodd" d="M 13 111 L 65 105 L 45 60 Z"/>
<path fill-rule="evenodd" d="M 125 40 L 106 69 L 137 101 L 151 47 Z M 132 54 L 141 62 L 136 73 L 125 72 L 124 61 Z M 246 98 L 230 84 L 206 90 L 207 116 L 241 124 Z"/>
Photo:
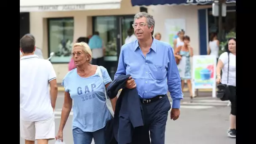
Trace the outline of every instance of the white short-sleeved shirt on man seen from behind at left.
<path fill-rule="evenodd" d="M 56 79 L 50 61 L 37 55 L 20 59 L 20 118 L 24 121 L 41 121 L 54 116 L 49 94 L 49 82 Z"/>

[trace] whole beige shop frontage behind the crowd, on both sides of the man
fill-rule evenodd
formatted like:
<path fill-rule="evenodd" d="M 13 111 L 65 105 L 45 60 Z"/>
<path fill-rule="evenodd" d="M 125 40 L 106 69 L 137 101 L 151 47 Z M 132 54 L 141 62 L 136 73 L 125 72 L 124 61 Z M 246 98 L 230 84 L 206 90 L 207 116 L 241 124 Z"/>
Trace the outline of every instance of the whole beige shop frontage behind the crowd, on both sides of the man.
<path fill-rule="evenodd" d="M 73 42 L 78 37 L 92 35 L 94 31 L 98 31 L 103 39 L 107 49 L 104 67 L 113 78 L 120 48 L 127 37 L 126 32 L 128 29 L 132 29 L 134 15 L 141 11 L 140 6 L 132 6 L 132 1 L 74 0 L 74 3 L 70 3 L 68 0 L 56 0 L 51 3 L 51 0 L 43 2 L 20 0 L 20 12 L 29 12 L 29 32 L 35 36 L 36 45 L 42 49 L 44 57 L 49 57 L 51 52 L 56 54 L 51 62 L 56 71 L 58 83 L 62 82 L 68 72 Z M 224 29 L 234 23 L 232 22 L 235 19 L 234 6 L 234 3 L 229 5 L 230 8 L 232 7 L 230 11 L 233 14 L 227 14 L 224 18 L 227 19 L 224 20 Z M 154 16 L 156 21 L 154 32 L 160 32 L 163 41 L 171 44 L 172 35 L 179 28 L 183 28 L 186 35 L 191 38 L 194 54 L 206 54 L 209 33 L 218 29 L 216 29 L 218 19 L 211 16 L 211 4 L 149 5 L 144 7 L 147 8 L 148 13 Z M 173 21 L 182 21 L 182 23 Z M 172 26 L 175 24 L 177 27 L 173 28 Z M 179 25 L 182 26 L 178 27 Z M 227 31 L 230 31 L 230 27 Z"/>

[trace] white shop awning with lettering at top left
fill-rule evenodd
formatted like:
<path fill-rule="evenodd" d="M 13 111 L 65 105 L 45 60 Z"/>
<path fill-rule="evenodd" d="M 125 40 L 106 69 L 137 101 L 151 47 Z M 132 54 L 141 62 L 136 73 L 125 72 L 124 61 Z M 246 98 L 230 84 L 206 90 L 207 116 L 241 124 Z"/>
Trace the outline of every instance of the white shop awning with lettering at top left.
<path fill-rule="evenodd" d="M 122 0 L 20 0 L 20 12 L 118 9 Z"/>

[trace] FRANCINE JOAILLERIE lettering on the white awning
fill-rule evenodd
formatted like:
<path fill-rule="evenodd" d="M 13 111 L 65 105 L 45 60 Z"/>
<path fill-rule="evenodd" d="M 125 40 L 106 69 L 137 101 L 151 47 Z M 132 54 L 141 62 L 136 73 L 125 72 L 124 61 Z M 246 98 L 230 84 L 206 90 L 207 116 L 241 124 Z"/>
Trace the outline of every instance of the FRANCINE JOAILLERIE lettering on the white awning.
<path fill-rule="evenodd" d="M 51 5 L 51 6 L 39 6 L 39 11 L 76 11 L 84 10 L 85 5 Z"/>

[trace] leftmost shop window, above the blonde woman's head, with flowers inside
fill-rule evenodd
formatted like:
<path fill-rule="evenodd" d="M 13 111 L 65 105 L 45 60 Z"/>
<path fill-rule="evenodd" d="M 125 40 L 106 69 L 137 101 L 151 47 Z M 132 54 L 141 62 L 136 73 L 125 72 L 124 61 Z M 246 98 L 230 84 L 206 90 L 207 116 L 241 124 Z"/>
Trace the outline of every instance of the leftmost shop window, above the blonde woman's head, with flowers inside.
<path fill-rule="evenodd" d="M 48 34 L 49 53 L 55 53 L 51 62 L 68 63 L 73 45 L 74 19 L 48 19 Z"/>

